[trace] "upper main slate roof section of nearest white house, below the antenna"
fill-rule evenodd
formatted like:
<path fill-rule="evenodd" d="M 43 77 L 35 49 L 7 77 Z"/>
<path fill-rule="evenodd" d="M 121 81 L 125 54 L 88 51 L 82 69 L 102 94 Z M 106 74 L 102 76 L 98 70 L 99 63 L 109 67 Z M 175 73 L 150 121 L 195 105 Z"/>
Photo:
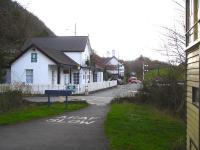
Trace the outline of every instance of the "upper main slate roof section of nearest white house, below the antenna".
<path fill-rule="evenodd" d="M 62 52 L 83 52 L 88 36 L 58 36 L 31 38 L 22 47 L 22 51 L 31 44 L 51 50 Z"/>

